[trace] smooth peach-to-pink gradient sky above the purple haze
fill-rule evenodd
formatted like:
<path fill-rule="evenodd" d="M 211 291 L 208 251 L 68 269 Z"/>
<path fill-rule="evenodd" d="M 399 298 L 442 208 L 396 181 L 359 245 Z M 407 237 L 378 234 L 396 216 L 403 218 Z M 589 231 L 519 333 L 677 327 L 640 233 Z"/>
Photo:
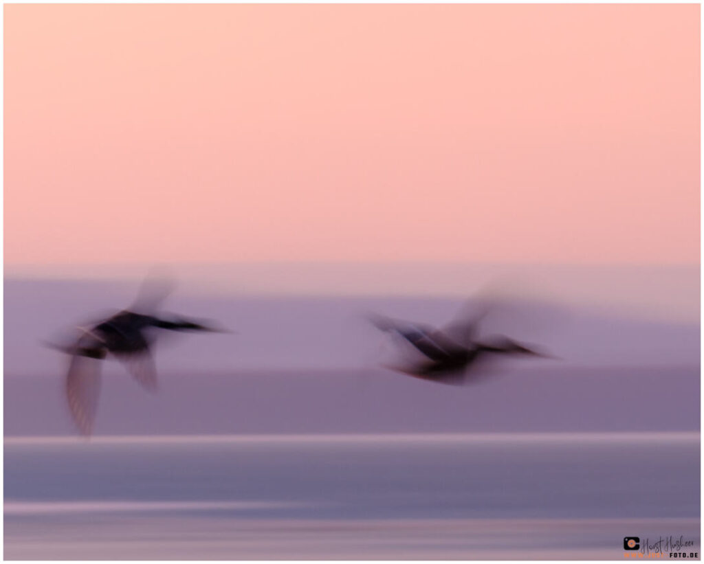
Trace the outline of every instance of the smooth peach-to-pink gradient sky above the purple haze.
<path fill-rule="evenodd" d="M 7 5 L 5 261 L 696 263 L 697 5 Z"/>

